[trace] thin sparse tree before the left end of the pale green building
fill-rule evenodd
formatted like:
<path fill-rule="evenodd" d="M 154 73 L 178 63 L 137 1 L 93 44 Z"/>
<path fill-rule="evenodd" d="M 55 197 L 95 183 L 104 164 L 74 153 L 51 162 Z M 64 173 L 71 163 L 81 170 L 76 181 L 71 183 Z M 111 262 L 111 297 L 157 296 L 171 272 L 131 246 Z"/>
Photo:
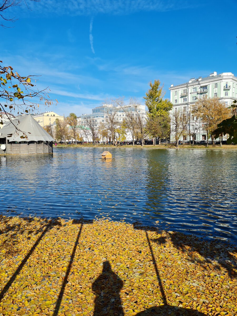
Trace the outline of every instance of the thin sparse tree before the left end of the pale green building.
<path fill-rule="evenodd" d="M 170 119 L 171 132 L 174 133 L 175 138 L 175 146 L 178 147 L 179 138 L 187 135 L 187 114 L 182 109 L 175 109 L 174 112 L 170 114 Z"/>

